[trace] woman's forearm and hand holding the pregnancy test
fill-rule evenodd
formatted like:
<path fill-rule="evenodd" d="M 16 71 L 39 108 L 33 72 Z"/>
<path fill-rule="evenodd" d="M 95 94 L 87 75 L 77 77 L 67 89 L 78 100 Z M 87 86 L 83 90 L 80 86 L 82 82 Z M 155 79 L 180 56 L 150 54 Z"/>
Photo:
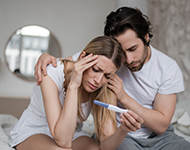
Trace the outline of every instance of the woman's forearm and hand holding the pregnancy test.
<path fill-rule="evenodd" d="M 127 133 L 140 129 L 143 123 L 143 119 L 130 110 L 127 113 L 120 114 L 120 116 L 121 125 L 115 132 L 111 121 L 107 122 L 106 137 L 101 136 L 100 139 L 101 150 L 116 150 L 125 139 Z"/>

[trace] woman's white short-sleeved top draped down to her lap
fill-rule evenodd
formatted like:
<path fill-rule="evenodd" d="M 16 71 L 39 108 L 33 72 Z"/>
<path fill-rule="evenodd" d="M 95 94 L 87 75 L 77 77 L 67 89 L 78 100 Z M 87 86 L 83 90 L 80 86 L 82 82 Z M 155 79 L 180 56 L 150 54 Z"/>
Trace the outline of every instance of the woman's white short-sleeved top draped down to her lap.
<path fill-rule="evenodd" d="M 51 64 L 47 66 L 47 75 L 51 77 L 51 79 L 55 82 L 59 89 L 59 100 L 62 106 L 64 105 L 66 94 L 63 86 L 63 83 L 65 81 L 63 69 L 64 64 L 61 63 L 61 61 L 59 60 L 57 60 L 57 67 L 53 67 Z M 91 111 L 91 103 L 89 101 L 83 103 L 82 109 L 85 117 L 87 118 Z M 10 145 L 11 147 L 14 147 L 15 145 L 21 143 L 31 135 L 39 133 L 46 134 L 53 138 L 49 131 L 45 115 L 41 89 L 40 86 L 37 86 L 35 84 L 31 94 L 31 100 L 28 108 L 23 112 L 14 129 L 10 132 Z M 87 133 L 82 131 L 81 124 L 80 126 L 78 126 L 78 128 L 76 128 L 73 140 L 80 136 L 89 136 Z"/>

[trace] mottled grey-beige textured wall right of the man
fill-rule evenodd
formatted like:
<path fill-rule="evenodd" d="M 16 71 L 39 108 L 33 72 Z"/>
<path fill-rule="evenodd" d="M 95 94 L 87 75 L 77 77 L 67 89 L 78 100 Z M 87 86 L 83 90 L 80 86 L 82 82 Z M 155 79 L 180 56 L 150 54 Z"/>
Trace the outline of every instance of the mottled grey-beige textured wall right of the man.
<path fill-rule="evenodd" d="M 177 61 L 184 77 L 185 91 L 179 101 L 190 101 L 190 1 L 149 0 L 153 23 L 152 44 Z"/>

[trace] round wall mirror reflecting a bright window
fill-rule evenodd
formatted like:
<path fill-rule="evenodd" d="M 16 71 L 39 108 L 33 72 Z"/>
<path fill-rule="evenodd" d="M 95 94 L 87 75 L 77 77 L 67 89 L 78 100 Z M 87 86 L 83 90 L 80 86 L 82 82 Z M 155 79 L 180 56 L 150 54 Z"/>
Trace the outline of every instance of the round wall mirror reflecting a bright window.
<path fill-rule="evenodd" d="M 5 47 L 5 60 L 13 74 L 35 81 L 34 66 L 42 53 L 60 57 L 60 45 L 47 28 L 29 25 L 17 29 L 11 35 Z"/>

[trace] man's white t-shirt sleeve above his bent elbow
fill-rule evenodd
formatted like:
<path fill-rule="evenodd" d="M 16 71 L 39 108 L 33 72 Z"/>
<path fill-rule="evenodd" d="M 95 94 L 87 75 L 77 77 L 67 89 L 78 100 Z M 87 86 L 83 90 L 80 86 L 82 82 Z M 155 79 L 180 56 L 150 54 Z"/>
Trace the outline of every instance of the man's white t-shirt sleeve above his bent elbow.
<path fill-rule="evenodd" d="M 182 72 L 176 62 L 172 63 L 163 74 L 162 84 L 158 90 L 161 94 L 173 94 L 184 91 Z"/>

